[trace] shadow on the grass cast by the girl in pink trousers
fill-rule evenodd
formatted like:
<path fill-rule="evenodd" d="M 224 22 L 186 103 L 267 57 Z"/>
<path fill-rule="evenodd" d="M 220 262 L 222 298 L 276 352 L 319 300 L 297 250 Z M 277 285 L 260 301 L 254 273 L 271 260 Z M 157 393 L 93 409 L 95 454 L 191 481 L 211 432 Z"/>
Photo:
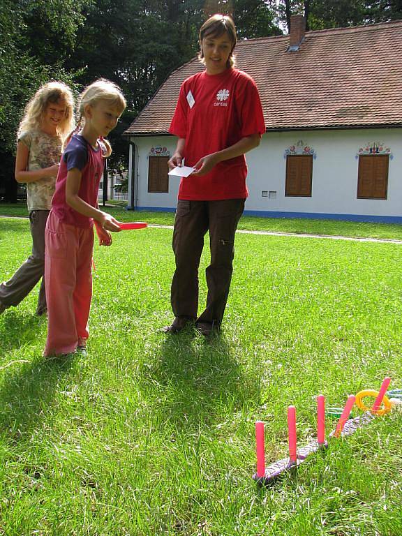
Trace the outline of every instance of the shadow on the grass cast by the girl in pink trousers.
<path fill-rule="evenodd" d="M 74 362 L 74 356 L 54 360 L 40 357 L 7 368 L 0 386 L 0 427 L 11 443 L 29 439 L 55 401 L 55 391 Z M 14 365 L 15 366 L 15 365 Z"/>

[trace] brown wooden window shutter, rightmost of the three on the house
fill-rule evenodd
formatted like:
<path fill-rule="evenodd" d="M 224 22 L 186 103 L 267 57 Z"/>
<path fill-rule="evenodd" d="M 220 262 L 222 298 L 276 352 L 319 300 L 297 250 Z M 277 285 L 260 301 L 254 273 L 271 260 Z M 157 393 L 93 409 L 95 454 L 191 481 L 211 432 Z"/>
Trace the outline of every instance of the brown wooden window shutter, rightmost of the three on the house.
<path fill-rule="evenodd" d="M 359 156 L 358 199 L 387 199 L 388 164 L 387 154 Z"/>

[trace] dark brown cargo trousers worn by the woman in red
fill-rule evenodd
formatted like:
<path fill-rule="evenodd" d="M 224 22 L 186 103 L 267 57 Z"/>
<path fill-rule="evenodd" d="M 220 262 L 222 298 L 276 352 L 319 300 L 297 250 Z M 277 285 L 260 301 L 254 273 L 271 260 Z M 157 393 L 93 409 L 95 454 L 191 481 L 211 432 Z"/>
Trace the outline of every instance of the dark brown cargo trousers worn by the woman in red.
<path fill-rule="evenodd" d="M 173 251 L 176 270 L 171 303 L 175 317 L 197 319 L 198 267 L 204 235 L 209 230 L 211 262 L 206 269 L 207 306 L 198 322 L 220 326 L 228 301 L 234 258 L 234 234 L 244 211 L 244 199 L 177 202 Z"/>

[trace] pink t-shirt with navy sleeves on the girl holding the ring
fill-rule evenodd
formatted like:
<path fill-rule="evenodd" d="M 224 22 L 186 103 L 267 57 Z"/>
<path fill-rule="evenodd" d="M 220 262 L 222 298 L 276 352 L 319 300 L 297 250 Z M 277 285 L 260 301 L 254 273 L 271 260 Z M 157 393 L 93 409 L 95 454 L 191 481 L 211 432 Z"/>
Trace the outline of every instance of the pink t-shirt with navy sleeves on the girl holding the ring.
<path fill-rule="evenodd" d="M 76 227 L 89 228 L 94 225 L 93 218 L 84 216 L 66 203 L 67 173 L 73 168 L 82 172 L 79 197 L 96 207 L 98 202 L 99 182 L 103 173 L 104 146 L 98 140 L 94 149 L 80 134 L 73 134 L 63 156 L 57 174 L 56 191 L 52 199 L 52 211 L 63 222 Z"/>

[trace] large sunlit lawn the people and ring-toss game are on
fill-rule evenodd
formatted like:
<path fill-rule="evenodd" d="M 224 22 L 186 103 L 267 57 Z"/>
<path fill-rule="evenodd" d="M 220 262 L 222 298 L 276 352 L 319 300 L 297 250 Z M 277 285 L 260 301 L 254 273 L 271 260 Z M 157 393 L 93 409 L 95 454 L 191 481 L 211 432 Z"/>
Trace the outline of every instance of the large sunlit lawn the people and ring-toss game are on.
<path fill-rule="evenodd" d="M 397 411 L 271 489 L 251 475 L 256 419 L 271 463 L 289 404 L 304 445 L 320 392 L 343 405 L 385 375 L 402 387 L 402 246 L 238 234 L 223 334 L 205 341 L 156 333 L 172 319 L 171 239 L 96 246 L 88 357 L 41 357 L 37 289 L 0 316 L 0 534 L 401 535 Z M 0 278 L 29 250 L 27 221 L 1 218 Z"/>

